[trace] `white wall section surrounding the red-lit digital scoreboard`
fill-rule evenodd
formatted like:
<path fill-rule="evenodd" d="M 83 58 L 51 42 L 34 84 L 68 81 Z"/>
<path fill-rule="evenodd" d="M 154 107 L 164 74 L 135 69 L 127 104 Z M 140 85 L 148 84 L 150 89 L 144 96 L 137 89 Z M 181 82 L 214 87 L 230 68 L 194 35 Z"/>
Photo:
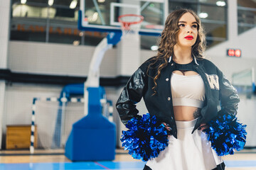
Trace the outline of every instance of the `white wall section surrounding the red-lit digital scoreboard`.
<path fill-rule="evenodd" d="M 231 79 L 234 72 L 240 72 L 251 67 L 256 69 L 255 38 L 256 28 L 252 28 L 232 40 L 211 47 L 206 51 L 206 58 L 214 62 L 228 79 Z M 226 52 L 229 48 L 240 49 L 242 51 L 241 57 L 227 57 Z"/>

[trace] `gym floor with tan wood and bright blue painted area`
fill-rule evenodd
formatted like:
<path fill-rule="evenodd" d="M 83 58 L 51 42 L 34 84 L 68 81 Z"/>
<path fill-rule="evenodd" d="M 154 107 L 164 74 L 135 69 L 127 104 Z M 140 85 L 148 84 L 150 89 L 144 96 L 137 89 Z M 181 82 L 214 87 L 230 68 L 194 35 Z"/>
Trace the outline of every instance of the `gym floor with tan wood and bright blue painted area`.
<path fill-rule="evenodd" d="M 127 152 L 117 149 L 112 162 L 70 162 L 63 149 L 36 150 L 31 155 L 28 150 L 0 151 L 0 170 L 141 170 L 144 162 L 132 159 Z M 256 149 L 244 149 L 234 155 L 223 157 L 227 170 L 256 170 Z"/>

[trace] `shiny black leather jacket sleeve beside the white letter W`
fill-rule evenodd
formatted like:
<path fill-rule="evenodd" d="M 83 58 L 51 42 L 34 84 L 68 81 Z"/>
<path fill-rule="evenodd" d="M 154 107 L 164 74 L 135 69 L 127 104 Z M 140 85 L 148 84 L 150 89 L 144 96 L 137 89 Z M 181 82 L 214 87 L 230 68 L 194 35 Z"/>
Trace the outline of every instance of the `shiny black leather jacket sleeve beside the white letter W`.
<path fill-rule="evenodd" d="M 217 69 L 219 75 L 220 84 L 220 107 L 221 111 L 225 111 L 229 114 L 237 114 L 238 103 L 240 98 L 237 90 L 230 84 L 230 81 L 225 78 L 223 73 Z"/>

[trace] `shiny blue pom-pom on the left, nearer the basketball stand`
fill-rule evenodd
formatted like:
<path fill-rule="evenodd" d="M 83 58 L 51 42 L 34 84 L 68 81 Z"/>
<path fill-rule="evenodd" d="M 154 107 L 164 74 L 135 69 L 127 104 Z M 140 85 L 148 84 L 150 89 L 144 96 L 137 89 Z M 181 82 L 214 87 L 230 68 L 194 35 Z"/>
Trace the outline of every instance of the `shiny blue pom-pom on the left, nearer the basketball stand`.
<path fill-rule="evenodd" d="M 158 125 L 156 116 L 149 113 L 128 121 L 127 131 L 122 131 L 122 147 L 129 150 L 134 159 L 143 162 L 155 158 L 168 146 L 168 135 L 164 125 Z"/>

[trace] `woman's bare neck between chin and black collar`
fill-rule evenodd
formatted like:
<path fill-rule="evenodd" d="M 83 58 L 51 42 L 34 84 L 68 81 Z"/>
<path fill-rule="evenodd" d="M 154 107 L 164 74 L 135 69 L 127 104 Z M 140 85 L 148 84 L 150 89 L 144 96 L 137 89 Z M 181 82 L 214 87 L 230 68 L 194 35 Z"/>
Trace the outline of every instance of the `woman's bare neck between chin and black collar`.
<path fill-rule="evenodd" d="M 191 47 L 181 48 L 178 46 L 174 46 L 174 62 L 178 64 L 188 64 L 193 60 L 191 56 Z"/>

